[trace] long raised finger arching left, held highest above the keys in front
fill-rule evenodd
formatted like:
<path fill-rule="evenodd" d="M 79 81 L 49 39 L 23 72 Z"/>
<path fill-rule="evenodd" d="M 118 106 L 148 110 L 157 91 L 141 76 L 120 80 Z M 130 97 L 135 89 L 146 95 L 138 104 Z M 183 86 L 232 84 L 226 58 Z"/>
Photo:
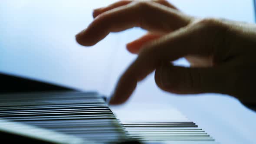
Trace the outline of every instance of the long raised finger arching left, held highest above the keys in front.
<path fill-rule="evenodd" d="M 191 19 L 157 3 L 130 3 L 97 16 L 87 29 L 76 35 L 76 40 L 83 46 L 92 46 L 110 32 L 135 26 L 149 31 L 168 32 L 186 26 Z"/>

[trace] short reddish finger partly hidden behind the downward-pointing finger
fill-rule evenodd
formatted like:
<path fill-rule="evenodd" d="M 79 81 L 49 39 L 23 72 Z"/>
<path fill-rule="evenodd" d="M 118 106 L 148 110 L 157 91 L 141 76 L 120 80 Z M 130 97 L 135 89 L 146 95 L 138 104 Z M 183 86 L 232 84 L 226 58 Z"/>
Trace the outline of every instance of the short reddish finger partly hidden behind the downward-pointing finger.
<path fill-rule="evenodd" d="M 155 33 L 148 33 L 135 41 L 132 41 L 131 43 L 128 43 L 126 45 L 126 48 L 128 49 L 129 52 L 131 53 L 138 53 L 141 47 L 148 42 L 151 42 L 152 40 L 160 38 L 162 35 L 161 34 L 155 34 Z"/>

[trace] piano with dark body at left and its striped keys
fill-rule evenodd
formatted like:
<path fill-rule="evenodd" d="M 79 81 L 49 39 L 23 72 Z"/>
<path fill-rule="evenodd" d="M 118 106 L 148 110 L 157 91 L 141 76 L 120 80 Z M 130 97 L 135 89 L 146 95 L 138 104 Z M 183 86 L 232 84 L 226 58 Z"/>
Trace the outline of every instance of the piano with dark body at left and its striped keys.
<path fill-rule="evenodd" d="M 97 92 L 0 79 L 0 136 L 8 142 L 217 144 L 192 121 L 121 123 Z"/>

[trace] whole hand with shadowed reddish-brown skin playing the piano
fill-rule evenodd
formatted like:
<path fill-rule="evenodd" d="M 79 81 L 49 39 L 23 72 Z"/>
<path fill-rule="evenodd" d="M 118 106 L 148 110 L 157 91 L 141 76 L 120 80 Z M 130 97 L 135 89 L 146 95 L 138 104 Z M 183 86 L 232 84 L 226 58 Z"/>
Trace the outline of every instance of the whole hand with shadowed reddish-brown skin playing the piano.
<path fill-rule="evenodd" d="M 196 18 L 165 0 L 122 0 L 94 10 L 93 22 L 76 35 L 92 46 L 111 32 L 141 27 L 148 33 L 127 44 L 137 59 L 119 79 L 110 104 L 125 102 L 155 70 L 155 82 L 176 94 L 222 93 L 256 104 L 256 25 Z M 185 57 L 190 67 L 171 64 Z"/>

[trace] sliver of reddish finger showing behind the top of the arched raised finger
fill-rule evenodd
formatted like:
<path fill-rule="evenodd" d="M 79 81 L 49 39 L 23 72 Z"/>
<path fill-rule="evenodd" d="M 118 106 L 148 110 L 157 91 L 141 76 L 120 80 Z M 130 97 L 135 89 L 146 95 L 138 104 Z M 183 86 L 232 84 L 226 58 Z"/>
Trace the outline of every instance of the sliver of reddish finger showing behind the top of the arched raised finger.
<path fill-rule="evenodd" d="M 115 2 L 111 5 L 109 5 L 108 7 L 102 7 L 102 8 L 95 9 L 93 11 L 93 18 L 97 17 L 99 14 L 104 13 L 108 10 L 112 10 L 117 7 L 125 6 L 133 1 L 135 1 L 135 0 L 120 0 L 118 2 Z M 174 7 L 171 3 L 168 3 L 166 0 L 152 0 L 152 2 L 159 3 L 166 7 L 170 7 L 172 9 L 178 10 L 176 7 Z"/>

